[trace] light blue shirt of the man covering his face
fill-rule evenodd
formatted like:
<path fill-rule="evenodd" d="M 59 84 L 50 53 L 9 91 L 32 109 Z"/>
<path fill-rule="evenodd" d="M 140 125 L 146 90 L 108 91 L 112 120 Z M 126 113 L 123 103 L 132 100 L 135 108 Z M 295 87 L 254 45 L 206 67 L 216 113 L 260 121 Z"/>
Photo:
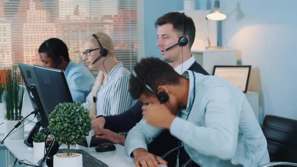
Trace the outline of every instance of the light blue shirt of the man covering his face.
<path fill-rule="evenodd" d="M 171 124 L 170 133 L 182 141 L 200 166 L 259 166 L 269 162 L 267 141 L 241 90 L 225 79 L 186 71 L 189 97 L 186 109 Z M 147 149 L 164 129 L 142 119 L 125 141 L 130 155 Z"/>

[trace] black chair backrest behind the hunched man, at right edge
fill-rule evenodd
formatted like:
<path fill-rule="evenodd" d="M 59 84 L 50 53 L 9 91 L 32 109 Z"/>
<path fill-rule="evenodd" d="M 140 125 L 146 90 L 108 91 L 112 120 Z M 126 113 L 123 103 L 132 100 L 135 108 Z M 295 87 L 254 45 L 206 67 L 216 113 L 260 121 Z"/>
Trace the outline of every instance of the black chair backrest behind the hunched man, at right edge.
<path fill-rule="evenodd" d="M 297 120 L 266 115 L 262 130 L 270 161 L 297 162 Z"/>

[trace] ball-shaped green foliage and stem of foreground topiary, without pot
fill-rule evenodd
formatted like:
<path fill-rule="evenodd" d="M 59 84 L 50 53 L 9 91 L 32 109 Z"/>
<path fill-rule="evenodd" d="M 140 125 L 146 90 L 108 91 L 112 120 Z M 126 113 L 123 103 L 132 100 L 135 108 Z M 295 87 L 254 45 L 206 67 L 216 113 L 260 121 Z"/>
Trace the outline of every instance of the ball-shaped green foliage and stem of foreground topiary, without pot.
<path fill-rule="evenodd" d="M 48 129 L 59 144 L 67 145 L 67 156 L 70 144 L 79 143 L 91 130 L 89 112 L 77 102 L 58 104 L 49 119 Z"/>

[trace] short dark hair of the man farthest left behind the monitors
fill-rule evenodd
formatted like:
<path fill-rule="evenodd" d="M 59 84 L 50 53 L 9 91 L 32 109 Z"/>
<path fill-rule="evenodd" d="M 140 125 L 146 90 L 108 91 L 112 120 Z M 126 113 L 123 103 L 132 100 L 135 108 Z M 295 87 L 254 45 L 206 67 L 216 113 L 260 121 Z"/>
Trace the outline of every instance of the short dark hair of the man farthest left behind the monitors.
<path fill-rule="evenodd" d="M 67 45 L 58 38 L 50 38 L 44 41 L 39 46 L 38 53 L 47 53 L 53 60 L 56 60 L 59 56 L 63 56 L 65 61 L 70 61 Z"/>

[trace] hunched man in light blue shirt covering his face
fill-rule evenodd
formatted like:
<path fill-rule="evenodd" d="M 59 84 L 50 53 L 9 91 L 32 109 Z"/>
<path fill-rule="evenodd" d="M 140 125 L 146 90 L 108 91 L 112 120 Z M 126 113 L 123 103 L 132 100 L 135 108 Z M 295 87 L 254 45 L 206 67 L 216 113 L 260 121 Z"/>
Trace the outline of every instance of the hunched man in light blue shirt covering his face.
<path fill-rule="evenodd" d="M 181 76 L 169 64 L 146 58 L 134 67 L 130 93 L 144 104 L 143 119 L 125 141 L 135 166 L 166 165 L 147 152 L 147 144 L 163 130 L 177 137 L 200 166 L 269 162 L 267 141 L 251 106 L 243 92 L 225 79 L 190 70 Z"/>

